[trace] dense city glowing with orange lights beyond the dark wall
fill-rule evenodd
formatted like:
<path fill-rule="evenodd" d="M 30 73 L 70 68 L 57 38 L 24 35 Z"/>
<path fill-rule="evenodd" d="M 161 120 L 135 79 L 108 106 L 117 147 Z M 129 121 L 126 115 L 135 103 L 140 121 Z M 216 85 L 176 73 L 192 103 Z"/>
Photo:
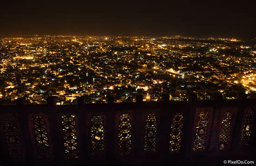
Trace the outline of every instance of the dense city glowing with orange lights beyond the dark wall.
<path fill-rule="evenodd" d="M 254 39 L 255 40 L 255 39 Z M 255 98 L 256 45 L 239 39 L 21 36 L 0 39 L 0 102 L 57 104 Z"/>

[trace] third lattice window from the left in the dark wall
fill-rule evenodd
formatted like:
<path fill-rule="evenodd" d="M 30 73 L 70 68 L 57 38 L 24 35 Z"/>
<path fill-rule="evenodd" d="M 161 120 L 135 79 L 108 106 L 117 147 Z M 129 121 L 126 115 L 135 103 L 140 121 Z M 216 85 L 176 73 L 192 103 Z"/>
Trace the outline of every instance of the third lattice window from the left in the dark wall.
<path fill-rule="evenodd" d="M 60 117 L 65 157 L 78 158 L 77 117 L 75 114 L 62 114 Z"/>

